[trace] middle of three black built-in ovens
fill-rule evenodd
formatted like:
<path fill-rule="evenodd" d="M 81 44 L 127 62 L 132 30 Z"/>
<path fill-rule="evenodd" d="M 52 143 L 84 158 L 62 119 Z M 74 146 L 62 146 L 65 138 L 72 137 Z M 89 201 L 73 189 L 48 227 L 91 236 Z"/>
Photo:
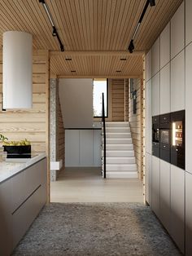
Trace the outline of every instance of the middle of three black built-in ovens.
<path fill-rule="evenodd" d="M 170 139 L 171 139 L 170 113 L 160 115 L 160 158 L 164 161 L 171 161 Z"/>

